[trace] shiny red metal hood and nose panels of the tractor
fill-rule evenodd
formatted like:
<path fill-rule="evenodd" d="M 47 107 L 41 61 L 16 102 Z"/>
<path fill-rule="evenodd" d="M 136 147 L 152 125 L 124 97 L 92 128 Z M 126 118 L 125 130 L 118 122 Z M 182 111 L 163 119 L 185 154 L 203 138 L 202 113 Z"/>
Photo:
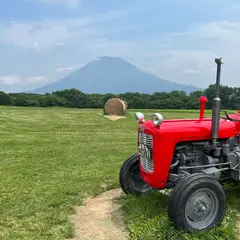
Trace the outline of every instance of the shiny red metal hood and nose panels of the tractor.
<path fill-rule="evenodd" d="M 240 120 L 240 116 L 237 114 L 231 114 L 230 117 Z M 141 123 L 138 132 L 141 132 L 141 126 L 144 125 L 144 132 L 153 136 L 154 159 L 153 173 L 145 172 L 140 164 L 143 180 L 154 188 L 163 189 L 167 183 L 176 144 L 211 140 L 211 124 L 211 118 L 164 120 L 158 127 L 152 121 Z M 228 139 L 238 134 L 240 134 L 240 122 L 220 120 L 219 139 Z"/>

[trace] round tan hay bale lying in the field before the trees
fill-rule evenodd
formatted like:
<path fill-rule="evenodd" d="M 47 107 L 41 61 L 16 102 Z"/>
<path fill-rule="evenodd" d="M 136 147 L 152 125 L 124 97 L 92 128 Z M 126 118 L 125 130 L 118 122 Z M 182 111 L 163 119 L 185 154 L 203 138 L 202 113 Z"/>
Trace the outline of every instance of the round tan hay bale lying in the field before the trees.
<path fill-rule="evenodd" d="M 105 103 L 104 112 L 109 115 L 124 115 L 127 104 L 119 98 L 111 98 Z"/>

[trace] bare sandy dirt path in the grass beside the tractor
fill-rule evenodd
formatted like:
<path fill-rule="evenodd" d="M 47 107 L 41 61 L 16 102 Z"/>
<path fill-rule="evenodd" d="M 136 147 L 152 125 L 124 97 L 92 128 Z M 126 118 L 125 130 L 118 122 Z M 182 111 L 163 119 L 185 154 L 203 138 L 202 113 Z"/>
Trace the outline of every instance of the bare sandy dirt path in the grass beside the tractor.
<path fill-rule="evenodd" d="M 121 190 L 107 191 L 96 198 L 85 201 L 85 205 L 76 208 L 72 216 L 75 225 L 73 240 L 126 240 L 125 229 L 120 206 L 115 201 Z"/>

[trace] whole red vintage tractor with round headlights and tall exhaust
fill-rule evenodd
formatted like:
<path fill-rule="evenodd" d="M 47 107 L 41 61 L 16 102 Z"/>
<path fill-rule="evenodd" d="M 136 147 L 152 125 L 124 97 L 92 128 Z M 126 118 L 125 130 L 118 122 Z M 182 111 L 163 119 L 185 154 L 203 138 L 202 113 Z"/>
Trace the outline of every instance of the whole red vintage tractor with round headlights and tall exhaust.
<path fill-rule="evenodd" d="M 119 176 L 125 194 L 172 189 L 169 219 L 187 232 L 221 224 L 227 207 L 222 184 L 240 180 L 240 112 L 220 117 L 221 58 L 215 63 L 212 117 L 204 117 L 204 96 L 199 118 L 163 120 L 154 113 L 145 121 L 142 113 L 136 113 L 138 153 L 123 163 Z"/>

